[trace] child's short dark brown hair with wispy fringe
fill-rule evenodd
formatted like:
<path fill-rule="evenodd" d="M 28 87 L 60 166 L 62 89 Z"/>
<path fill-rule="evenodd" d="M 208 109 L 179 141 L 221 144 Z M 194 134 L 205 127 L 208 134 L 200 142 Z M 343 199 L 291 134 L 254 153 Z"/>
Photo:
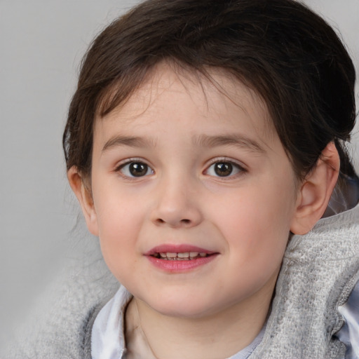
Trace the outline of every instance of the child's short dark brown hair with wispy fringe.
<path fill-rule="evenodd" d="M 63 147 L 67 169 L 90 175 L 95 116 L 125 102 L 163 60 L 225 69 L 261 95 L 302 178 L 355 123 L 355 69 L 337 34 L 294 0 L 147 0 L 111 23 L 83 58 Z"/>

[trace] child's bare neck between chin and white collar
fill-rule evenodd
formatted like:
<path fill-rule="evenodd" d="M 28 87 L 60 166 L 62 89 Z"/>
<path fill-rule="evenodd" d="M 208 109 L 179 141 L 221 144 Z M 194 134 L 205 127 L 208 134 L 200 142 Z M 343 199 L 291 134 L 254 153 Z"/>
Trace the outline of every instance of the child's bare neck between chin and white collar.
<path fill-rule="evenodd" d="M 166 316 L 140 299 L 133 299 L 128 312 L 138 311 L 137 324 L 156 358 L 222 359 L 241 351 L 257 337 L 266 321 L 272 291 L 265 298 L 262 293 L 201 318 Z"/>

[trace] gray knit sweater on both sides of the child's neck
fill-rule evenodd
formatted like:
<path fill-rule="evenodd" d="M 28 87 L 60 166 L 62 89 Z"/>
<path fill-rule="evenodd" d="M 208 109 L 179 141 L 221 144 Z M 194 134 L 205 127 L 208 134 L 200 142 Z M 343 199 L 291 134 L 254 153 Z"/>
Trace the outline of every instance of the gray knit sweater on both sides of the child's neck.
<path fill-rule="evenodd" d="M 250 358 L 344 358 L 346 348 L 334 336 L 343 325 L 337 307 L 358 279 L 359 205 L 291 238 L 264 338 Z M 55 281 L 4 358 L 90 358 L 91 325 L 117 288 L 102 260 L 76 264 Z"/>

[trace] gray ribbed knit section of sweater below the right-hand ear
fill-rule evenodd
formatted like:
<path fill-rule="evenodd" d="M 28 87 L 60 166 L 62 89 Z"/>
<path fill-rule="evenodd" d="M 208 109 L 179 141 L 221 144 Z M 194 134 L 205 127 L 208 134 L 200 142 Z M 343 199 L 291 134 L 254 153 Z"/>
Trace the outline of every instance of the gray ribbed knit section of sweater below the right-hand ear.
<path fill-rule="evenodd" d="M 359 205 L 320 219 L 306 236 L 293 236 L 276 285 L 262 343 L 250 359 L 344 358 L 333 336 L 359 272 Z"/>

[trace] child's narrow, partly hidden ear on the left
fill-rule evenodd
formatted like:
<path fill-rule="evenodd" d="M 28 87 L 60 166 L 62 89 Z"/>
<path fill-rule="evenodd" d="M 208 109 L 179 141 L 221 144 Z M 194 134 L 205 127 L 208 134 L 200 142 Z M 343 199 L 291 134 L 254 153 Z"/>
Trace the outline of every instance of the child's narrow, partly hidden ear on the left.
<path fill-rule="evenodd" d="M 91 191 L 88 189 L 88 186 L 86 186 L 86 180 L 81 177 L 81 174 L 76 166 L 72 166 L 72 168 L 67 171 L 67 179 L 69 179 L 72 191 L 74 191 L 74 194 L 79 200 L 83 216 L 86 219 L 88 230 L 93 233 L 94 236 L 98 236 L 95 205 L 93 203 Z"/>

